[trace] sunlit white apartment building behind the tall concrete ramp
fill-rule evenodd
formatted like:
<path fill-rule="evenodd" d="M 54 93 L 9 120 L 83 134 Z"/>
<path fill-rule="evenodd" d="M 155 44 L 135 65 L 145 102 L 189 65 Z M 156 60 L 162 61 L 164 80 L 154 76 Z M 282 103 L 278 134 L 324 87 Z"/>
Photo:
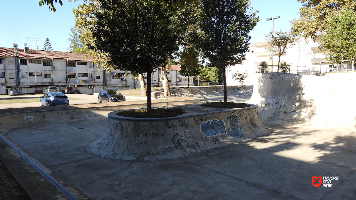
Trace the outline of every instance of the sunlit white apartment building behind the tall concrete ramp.
<path fill-rule="evenodd" d="M 241 64 L 229 67 L 227 70 L 227 84 L 228 85 L 240 85 L 235 80 L 235 72 L 247 72 L 248 79 L 246 79 L 244 85 L 251 85 L 253 74 L 259 71 L 259 66 L 262 61 L 268 63 L 268 72 L 272 72 L 272 52 L 267 51 L 267 41 L 256 42 L 250 44 L 250 51 L 246 53 L 246 60 Z M 337 68 L 336 65 L 325 62 L 325 54 L 321 52 L 318 47 L 320 44 L 304 39 L 300 39 L 293 43 L 291 48 L 288 48 L 281 56 L 280 63 L 288 63 L 290 65 L 290 72 L 293 74 L 315 74 L 320 72 L 329 72 L 330 68 Z M 346 62 L 345 62 L 346 63 Z M 350 63 L 348 63 L 350 65 Z M 273 72 L 277 72 L 278 56 L 273 54 Z M 340 66 L 339 66 L 340 67 Z M 346 67 L 347 68 L 347 67 Z M 351 69 L 351 67 L 349 67 Z M 279 70 L 281 72 L 281 70 Z"/>

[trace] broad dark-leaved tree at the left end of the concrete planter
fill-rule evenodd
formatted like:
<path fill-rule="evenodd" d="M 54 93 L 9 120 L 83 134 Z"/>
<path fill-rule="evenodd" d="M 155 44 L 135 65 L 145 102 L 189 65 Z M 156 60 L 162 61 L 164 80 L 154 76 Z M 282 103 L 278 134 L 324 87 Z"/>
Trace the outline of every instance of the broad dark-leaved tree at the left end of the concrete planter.
<path fill-rule="evenodd" d="M 150 6 L 145 0 L 91 0 L 74 10 L 76 26 L 94 57 L 116 69 L 147 73 L 147 111 L 151 105 L 151 74 L 179 50 L 185 33 L 186 9 Z M 104 58 L 103 55 L 104 54 Z M 105 66 L 103 66 L 105 67 Z"/>

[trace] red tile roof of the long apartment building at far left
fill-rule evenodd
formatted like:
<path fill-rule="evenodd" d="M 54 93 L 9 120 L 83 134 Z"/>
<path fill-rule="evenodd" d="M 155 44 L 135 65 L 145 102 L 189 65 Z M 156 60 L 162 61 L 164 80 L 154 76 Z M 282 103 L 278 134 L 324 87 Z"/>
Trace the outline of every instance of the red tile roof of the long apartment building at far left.
<path fill-rule="evenodd" d="M 0 47 L 0 57 L 14 56 L 14 48 Z M 79 61 L 92 61 L 93 57 L 88 55 L 85 58 L 85 53 L 72 53 L 62 51 L 43 51 L 30 49 L 29 53 L 25 53 L 24 49 L 17 49 L 17 56 L 20 58 L 33 58 L 33 59 L 68 59 Z"/>

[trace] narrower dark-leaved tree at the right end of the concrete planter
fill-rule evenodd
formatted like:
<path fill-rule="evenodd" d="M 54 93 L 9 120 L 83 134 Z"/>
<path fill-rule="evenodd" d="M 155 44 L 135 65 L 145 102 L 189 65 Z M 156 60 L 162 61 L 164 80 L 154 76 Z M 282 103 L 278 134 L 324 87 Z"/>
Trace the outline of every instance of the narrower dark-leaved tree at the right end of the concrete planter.
<path fill-rule="evenodd" d="M 223 73 L 224 103 L 227 104 L 225 68 L 245 59 L 250 44 L 248 35 L 259 20 L 249 0 L 202 0 L 201 44 L 205 58 Z"/>

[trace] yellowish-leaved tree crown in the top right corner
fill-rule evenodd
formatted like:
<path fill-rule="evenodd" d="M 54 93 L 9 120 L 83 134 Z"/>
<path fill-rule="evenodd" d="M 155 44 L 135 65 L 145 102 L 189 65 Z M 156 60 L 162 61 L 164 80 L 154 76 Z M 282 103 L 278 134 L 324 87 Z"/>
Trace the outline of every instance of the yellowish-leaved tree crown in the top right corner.
<path fill-rule="evenodd" d="M 314 42 L 318 41 L 320 33 L 326 29 L 328 20 L 344 9 L 355 12 L 354 0 L 298 0 L 302 2 L 299 9 L 299 19 L 292 22 L 292 33 L 298 34 L 307 40 L 309 37 Z"/>

